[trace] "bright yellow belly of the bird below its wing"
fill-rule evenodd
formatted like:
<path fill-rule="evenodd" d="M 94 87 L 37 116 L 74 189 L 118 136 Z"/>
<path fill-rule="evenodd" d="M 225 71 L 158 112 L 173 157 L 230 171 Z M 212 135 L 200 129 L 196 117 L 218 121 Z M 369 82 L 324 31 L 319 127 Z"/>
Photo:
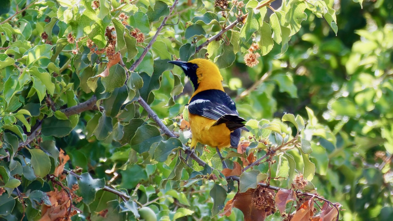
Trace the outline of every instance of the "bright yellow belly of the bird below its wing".
<path fill-rule="evenodd" d="M 231 145 L 231 131 L 224 123 L 212 127 L 215 120 L 205 118 L 196 114 L 189 114 L 191 134 L 193 136 L 191 147 L 196 143 L 206 144 L 211 147 L 229 147 Z"/>

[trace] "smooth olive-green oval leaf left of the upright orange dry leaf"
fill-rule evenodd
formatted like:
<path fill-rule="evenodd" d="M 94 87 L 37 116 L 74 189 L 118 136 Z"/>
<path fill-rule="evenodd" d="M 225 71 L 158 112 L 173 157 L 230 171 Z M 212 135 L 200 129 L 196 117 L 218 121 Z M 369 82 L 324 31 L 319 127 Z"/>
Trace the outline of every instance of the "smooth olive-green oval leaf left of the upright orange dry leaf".
<path fill-rule="evenodd" d="M 33 167 L 34 174 L 41 178 L 48 175 L 51 168 L 51 162 L 48 155 L 40 149 L 29 149 L 29 152 L 31 154 L 30 163 Z"/>

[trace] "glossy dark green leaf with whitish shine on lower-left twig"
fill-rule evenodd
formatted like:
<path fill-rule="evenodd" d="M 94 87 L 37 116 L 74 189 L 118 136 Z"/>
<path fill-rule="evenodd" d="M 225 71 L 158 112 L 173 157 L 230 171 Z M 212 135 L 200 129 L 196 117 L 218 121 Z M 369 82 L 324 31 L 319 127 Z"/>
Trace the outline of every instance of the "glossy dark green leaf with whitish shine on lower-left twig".
<path fill-rule="evenodd" d="M 95 193 L 105 187 L 105 179 L 93 179 L 89 173 L 82 173 L 78 184 L 83 203 L 90 204 L 95 199 Z"/>

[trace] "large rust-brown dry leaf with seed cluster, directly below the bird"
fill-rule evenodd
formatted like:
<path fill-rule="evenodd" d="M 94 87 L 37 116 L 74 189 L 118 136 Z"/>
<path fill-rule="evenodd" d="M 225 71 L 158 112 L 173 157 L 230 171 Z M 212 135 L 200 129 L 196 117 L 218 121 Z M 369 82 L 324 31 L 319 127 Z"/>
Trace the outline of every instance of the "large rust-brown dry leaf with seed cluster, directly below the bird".
<path fill-rule="evenodd" d="M 244 221 L 264 221 L 266 216 L 274 213 L 274 191 L 258 186 L 256 189 L 248 189 L 244 193 L 236 193 L 229 200 L 224 212 L 220 215 L 229 216 L 232 208 L 238 208 L 244 215 Z"/>

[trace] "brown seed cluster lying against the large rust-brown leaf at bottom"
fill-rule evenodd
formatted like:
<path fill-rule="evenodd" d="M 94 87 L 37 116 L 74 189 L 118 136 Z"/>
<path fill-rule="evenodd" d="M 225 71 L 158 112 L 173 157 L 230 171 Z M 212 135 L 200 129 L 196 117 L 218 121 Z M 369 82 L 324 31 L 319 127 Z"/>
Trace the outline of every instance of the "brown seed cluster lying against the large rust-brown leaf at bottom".
<path fill-rule="evenodd" d="M 275 211 L 273 191 L 269 191 L 261 186 L 255 189 L 254 196 L 252 197 L 252 204 L 259 210 L 265 210 L 268 214 Z"/>

